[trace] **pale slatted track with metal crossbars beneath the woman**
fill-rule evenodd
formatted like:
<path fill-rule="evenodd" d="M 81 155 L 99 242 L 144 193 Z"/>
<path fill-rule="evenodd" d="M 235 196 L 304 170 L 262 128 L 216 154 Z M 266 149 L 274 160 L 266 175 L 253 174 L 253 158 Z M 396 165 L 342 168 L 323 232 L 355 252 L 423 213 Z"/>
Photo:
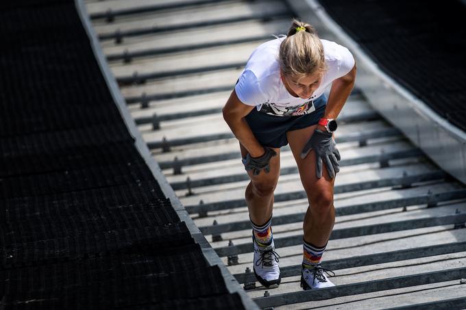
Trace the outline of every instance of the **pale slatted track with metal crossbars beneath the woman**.
<path fill-rule="evenodd" d="M 286 32 L 293 17 L 286 1 L 108 0 L 88 8 L 169 185 L 259 307 L 466 307 L 466 188 L 371 109 L 357 82 L 339 116 L 336 224 L 323 259 L 336 287 L 299 287 L 308 201 L 289 146 L 280 154 L 273 216 L 282 284 L 265 291 L 256 282 L 243 198 L 248 177 L 221 109 L 252 49 Z M 321 38 L 336 40 L 310 22 Z"/>

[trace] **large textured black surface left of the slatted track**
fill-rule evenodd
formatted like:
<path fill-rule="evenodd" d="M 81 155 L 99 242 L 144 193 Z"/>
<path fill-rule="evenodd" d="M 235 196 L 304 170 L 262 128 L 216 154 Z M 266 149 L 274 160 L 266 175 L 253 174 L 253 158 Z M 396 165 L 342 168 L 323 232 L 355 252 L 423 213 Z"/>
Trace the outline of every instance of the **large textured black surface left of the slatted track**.
<path fill-rule="evenodd" d="M 136 150 L 74 2 L 0 18 L 0 308 L 243 309 Z"/>

